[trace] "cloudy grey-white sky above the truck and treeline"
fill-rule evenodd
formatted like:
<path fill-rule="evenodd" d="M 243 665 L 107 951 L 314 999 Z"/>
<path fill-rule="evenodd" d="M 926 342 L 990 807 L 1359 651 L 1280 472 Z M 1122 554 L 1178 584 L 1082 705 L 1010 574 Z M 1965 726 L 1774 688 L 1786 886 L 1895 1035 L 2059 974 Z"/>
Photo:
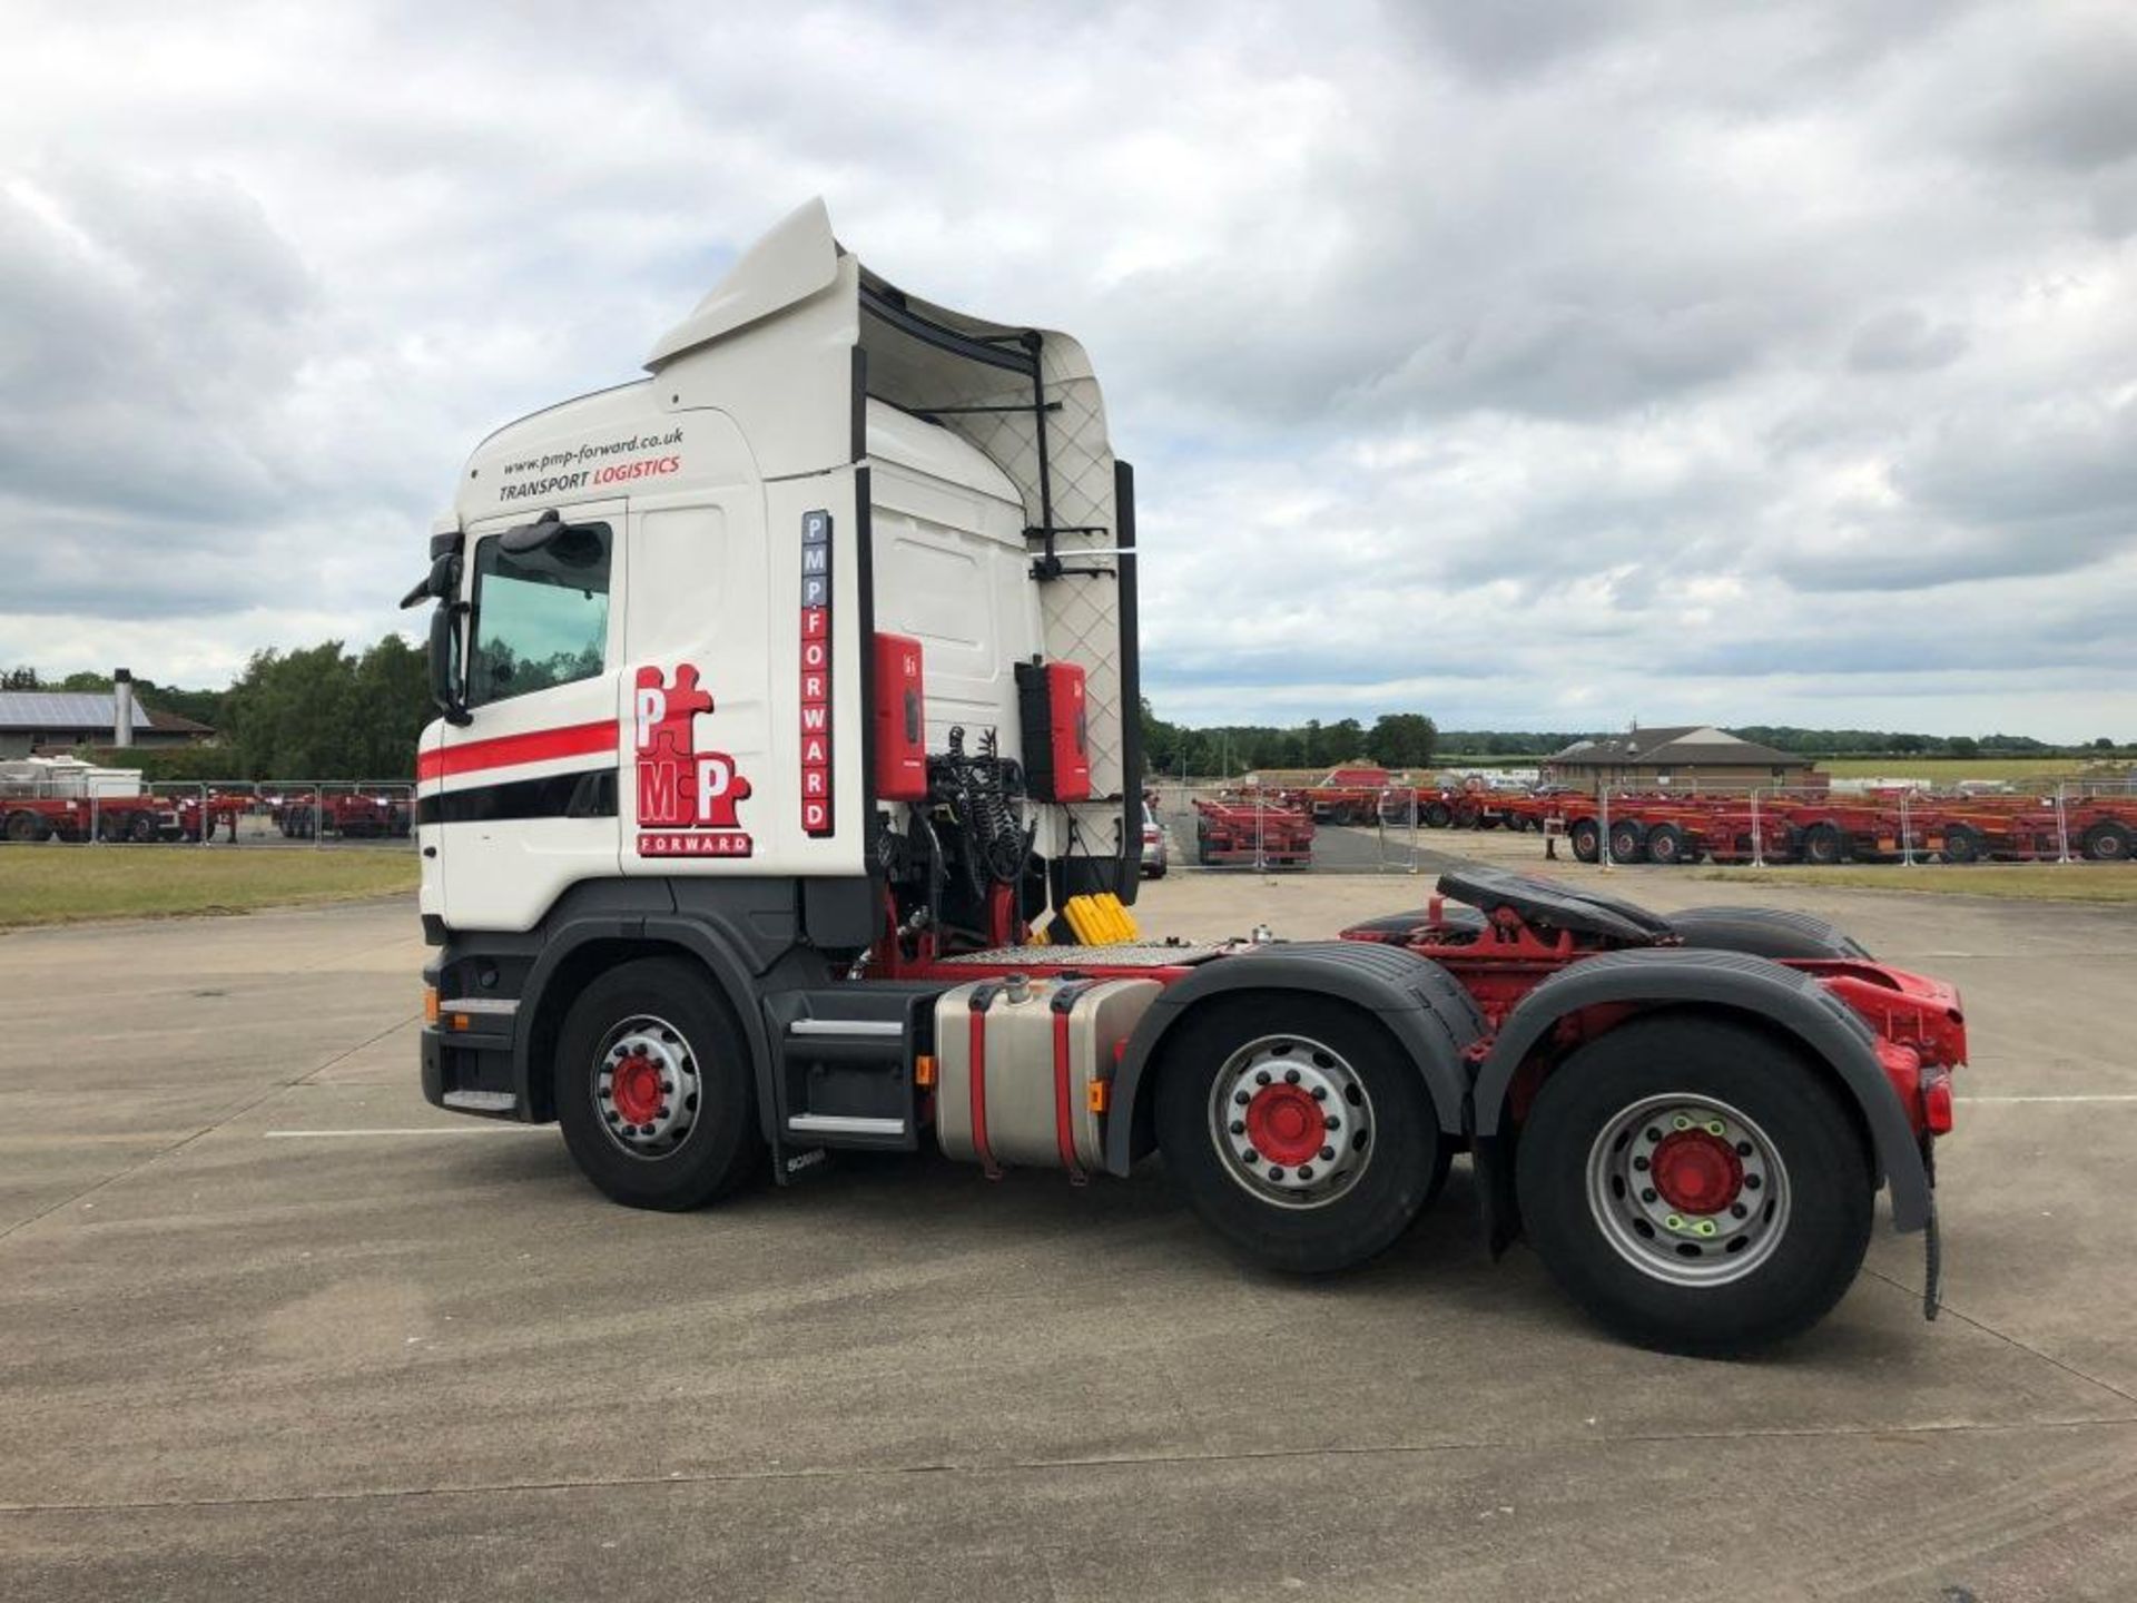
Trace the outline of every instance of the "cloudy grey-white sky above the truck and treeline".
<path fill-rule="evenodd" d="M 1077 333 L 1210 722 L 2137 737 L 2137 6 L 169 6 L 0 53 L 0 665 L 376 639 L 810 194 Z"/>

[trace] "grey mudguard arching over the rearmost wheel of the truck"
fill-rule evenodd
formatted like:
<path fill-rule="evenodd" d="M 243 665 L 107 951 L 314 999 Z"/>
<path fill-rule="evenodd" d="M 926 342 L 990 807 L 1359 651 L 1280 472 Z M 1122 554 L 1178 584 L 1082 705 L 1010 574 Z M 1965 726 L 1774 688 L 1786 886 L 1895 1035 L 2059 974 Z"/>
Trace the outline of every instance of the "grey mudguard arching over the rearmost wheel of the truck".
<path fill-rule="evenodd" d="M 1722 1007 L 1787 1030 L 1834 1067 L 1861 1107 L 1876 1165 L 1891 1184 L 1891 1223 L 1919 1231 L 1930 1220 L 1930 1176 L 1915 1131 L 1876 1058 L 1876 1037 L 1810 975 L 1742 951 L 1641 947 L 1588 958 L 1532 990 L 1507 1024 L 1477 1077 L 1477 1135 L 1498 1135 L 1515 1071 L 1566 1013 L 1601 1002 Z"/>

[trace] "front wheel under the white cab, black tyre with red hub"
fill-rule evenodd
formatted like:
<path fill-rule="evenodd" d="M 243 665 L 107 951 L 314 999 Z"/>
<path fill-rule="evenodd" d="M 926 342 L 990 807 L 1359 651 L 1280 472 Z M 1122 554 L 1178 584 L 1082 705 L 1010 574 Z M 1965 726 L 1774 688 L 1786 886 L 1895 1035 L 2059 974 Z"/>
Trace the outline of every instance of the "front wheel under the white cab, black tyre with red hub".
<path fill-rule="evenodd" d="M 628 1208 L 699 1208 L 761 1167 L 748 1043 L 682 958 L 639 958 L 588 985 L 558 1032 L 553 1086 L 579 1171 Z"/>

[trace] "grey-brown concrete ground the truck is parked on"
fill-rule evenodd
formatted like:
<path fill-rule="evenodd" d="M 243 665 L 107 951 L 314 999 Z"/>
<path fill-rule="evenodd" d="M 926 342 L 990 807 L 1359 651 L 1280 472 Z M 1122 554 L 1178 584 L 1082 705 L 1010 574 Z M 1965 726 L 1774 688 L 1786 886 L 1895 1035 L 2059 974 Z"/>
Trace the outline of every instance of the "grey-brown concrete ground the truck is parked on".
<path fill-rule="evenodd" d="M 1423 889 L 1143 913 L 1310 936 Z M 1489 1263 L 1460 1167 L 1310 1285 L 1154 1171 L 622 1212 L 553 1131 L 421 1101 L 406 904 L 0 936 L 0 1597 L 2137 1597 L 2137 911 L 1752 893 L 1953 977 L 1975 1041 L 1945 1317 L 1881 1235 L 1754 1364 Z"/>

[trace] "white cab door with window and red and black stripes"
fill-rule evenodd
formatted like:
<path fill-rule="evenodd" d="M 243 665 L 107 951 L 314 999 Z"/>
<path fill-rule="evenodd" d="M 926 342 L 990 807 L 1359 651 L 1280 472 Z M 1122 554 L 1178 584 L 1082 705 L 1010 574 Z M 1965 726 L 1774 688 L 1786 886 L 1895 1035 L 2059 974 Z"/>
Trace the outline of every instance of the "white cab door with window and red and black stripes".
<path fill-rule="evenodd" d="M 573 885 L 618 872 L 626 511 L 556 507 L 547 539 L 528 513 L 468 530 L 470 716 L 425 752 L 453 928 L 530 930 Z"/>

